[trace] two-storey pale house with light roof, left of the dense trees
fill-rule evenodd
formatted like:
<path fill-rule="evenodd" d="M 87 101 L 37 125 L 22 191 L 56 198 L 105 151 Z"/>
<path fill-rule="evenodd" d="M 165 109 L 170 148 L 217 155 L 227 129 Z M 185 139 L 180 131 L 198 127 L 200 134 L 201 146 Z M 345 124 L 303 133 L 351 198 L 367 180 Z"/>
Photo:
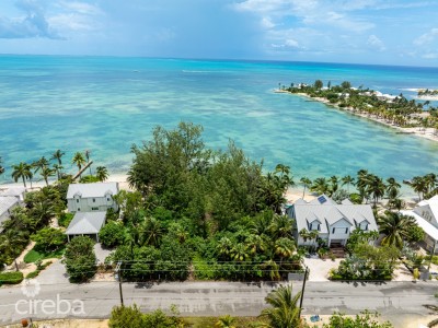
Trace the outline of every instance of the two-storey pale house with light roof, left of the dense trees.
<path fill-rule="evenodd" d="M 118 209 L 113 196 L 117 183 L 71 184 L 67 191 L 67 208 L 71 213 Z"/>

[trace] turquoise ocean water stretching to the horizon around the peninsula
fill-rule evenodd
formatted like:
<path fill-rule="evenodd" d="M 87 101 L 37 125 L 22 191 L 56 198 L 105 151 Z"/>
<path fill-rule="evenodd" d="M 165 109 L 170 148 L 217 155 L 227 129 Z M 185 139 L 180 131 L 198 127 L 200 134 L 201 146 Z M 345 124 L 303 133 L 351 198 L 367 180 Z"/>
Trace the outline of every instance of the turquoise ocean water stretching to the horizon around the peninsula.
<path fill-rule="evenodd" d="M 229 139 L 265 167 L 295 176 L 355 175 L 367 168 L 399 179 L 436 172 L 438 143 L 306 98 L 275 94 L 278 83 L 350 81 L 383 93 L 438 89 L 438 68 L 180 60 L 113 57 L 0 56 L 0 156 L 20 161 L 91 151 L 97 165 L 126 173 L 132 143 L 157 125 L 200 124 L 215 149 Z"/>

